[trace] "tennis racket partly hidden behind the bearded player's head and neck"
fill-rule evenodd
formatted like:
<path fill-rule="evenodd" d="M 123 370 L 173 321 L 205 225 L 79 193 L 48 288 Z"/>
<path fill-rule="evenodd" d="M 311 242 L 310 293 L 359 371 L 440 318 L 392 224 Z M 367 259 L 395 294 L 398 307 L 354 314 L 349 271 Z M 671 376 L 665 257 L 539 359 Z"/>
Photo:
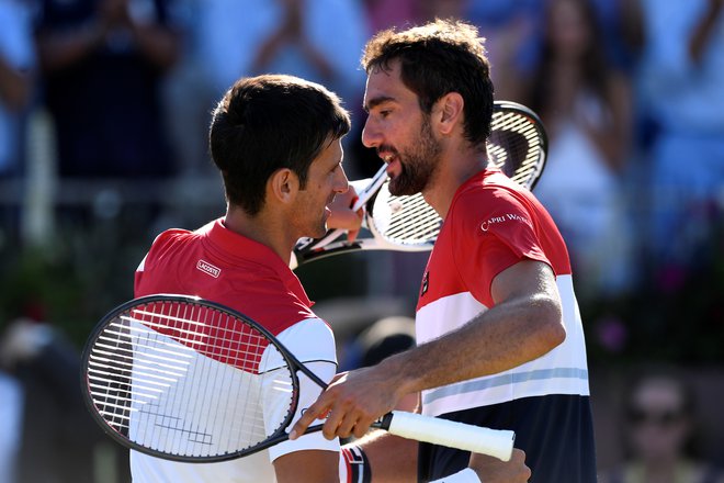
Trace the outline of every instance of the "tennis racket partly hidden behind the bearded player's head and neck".
<path fill-rule="evenodd" d="M 487 142 L 488 158 L 519 184 L 532 190 L 547 154 L 547 136 L 540 117 L 522 104 L 496 101 Z M 442 220 L 422 194 L 395 196 L 387 189 L 386 165 L 361 190 L 354 182 L 358 200 L 352 210 L 364 206 L 361 233 L 348 242 L 342 229 L 332 229 L 323 238 L 297 242 L 290 267 L 357 250 L 427 251 L 432 249 Z M 367 233 L 369 232 L 369 233 Z"/>

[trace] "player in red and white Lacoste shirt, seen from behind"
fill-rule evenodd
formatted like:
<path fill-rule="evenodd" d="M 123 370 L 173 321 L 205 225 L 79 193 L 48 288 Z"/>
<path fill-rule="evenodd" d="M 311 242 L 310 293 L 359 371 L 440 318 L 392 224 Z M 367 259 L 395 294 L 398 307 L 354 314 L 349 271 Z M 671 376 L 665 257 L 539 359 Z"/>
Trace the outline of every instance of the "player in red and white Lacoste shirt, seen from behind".
<path fill-rule="evenodd" d="M 301 237 L 326 233 L 332 201 L 348 192 L 341 139 L 349 130 L 339 98 L 317 83 L 281 75 L 237 81 L 214 111 L 210 132 L 226 215 L 194 232 L 161 233 L 137 269 L 135 296 L 186 294 L 235 308 L 261 323 L 323 380 L 331 380 L 333 335 L 312 311 L 289 262 Z M 303 374 L 299 383 L 295 418 L 320 392 Z M 259 417 L 273 418 L 287 404 L 287 397 L 279 398 L 279 405 L 273 395 L 264 400 L 264 407 L 256 408 Z M 217 463 L 131 453 L 135 483 L 337 482 L 340 471 L 347 481 L 348 468 L 339 441 L 321 433 Z M 520 451 L 512 464 L 495 468 L 508 474 L 527 470 Z"/>

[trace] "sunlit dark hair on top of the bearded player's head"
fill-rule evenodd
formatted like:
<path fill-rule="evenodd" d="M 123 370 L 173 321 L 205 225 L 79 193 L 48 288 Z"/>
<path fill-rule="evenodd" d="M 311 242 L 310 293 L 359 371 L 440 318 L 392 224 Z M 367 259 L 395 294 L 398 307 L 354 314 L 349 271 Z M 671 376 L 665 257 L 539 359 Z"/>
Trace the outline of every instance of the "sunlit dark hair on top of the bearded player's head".
<path fill-rule="evenodd" d="M 399 59 L 405 86 L 419 98 L 426 114 L 444 94 L 457 92 L 465 101 L 465 137 L 474 146 L 484 145 L 490 134 L 493 81 L 485 40 L 477 29 L 455 20 L 440 20 L 396 32 L 377 33 L 366 44 L 362 66 L 389 69 Z"/>

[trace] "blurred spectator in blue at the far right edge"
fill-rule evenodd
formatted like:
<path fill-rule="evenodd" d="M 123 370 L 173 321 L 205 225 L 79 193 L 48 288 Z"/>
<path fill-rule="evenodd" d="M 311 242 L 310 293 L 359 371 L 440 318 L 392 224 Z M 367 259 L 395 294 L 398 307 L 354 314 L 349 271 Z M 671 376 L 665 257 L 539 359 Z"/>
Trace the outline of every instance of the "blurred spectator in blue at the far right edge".
<path fill-rule="evenodd" d="M 711 265 L 724 187 L 724 1 L 641 0 L 638 72 L 651 182 L 647 249 L 669 291 Z"/>

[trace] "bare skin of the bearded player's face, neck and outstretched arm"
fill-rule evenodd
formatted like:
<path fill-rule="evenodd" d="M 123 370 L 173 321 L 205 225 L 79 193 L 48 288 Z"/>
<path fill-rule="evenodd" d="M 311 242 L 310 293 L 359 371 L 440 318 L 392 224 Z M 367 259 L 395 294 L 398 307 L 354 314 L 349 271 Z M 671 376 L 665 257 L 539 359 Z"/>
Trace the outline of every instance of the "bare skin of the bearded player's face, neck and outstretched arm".
<path fill-rule="evenodd" d="M 363 143 L 385 160 L 387 173 L 399 183 L 397 192 L 404 184 L 423 184 L 425 200 L 444 218 L 460 186 L 485 168 L 485 147 L 465 138 L 460 93 L 442 96 L 426 115 L 417 94 L 401 81 L 398 61 L 388 67 L 369 74 L 364 106 L 370 115 Z M 423 127 L 427 122 L 429 130 Z M 430 136 L 422 141 L 426 131 Z M 438 149 L 433 166 L 420 157 Z M 522 260 L 509 267 L 493 281 L 491 295 L 495 307 L 463 329 L 375 367 L 338 374 L 295 424 L 291 438 L 326 416 L 326 438 L 361 438 L 376 417 L 396 407 L 406 394 L 502 372 L 542 356 L 565 338 L 555 277 L 546 263 Z M 478 323 L 480 317 L 485 323 Z M 480 346 L 489 349 L 482 353 Z M 474 363 L 455 363 L 446 357 L 453 351 L 460 360 Z"/>

